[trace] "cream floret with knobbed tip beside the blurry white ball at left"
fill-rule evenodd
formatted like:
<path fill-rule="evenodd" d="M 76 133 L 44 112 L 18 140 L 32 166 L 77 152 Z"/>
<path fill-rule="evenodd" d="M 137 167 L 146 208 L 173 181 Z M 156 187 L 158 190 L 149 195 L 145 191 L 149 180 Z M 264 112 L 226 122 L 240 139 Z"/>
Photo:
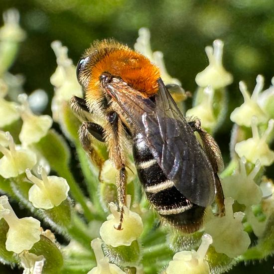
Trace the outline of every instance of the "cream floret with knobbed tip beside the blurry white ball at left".
<path fill-rule="evenodd" d="M 20 94 L 18 96 L 18 101 L 22 103 L 22 106 L 19 108 L 19 110 L 23 120 L 19 139 L 21 143 L 25 145 L 38 142 L 42 137 L 47 135 L 48 130 L 52 126 L 52 119 L 48 115 L 34 115 L 27 103 L 26 94 Z"/>

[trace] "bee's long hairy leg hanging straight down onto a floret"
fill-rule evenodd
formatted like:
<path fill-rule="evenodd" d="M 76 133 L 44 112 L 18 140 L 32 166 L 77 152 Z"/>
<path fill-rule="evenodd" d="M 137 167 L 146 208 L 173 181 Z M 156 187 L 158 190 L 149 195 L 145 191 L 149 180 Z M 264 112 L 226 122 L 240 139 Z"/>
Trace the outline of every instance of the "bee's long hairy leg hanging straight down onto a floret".
<path fill-rule="evenodd" d="M 110 123 L 110 128 L 112 131 L 112 139 L 109 141 L 111 143 L 111 149 L 115 149 L 115 153 L 110 153 L 110 155 L 115 155 L 113 157 L 114 163 L 116 165 L 117 170 L 117 191 L 118 191 L 118 200 L 119 200 L 119 208 L 120 208 L 120 223 L 116 227 L 117 230 L 122 230 L 123 223 L 123 214 L 124 214 L 124 206 L 126 203 L 126 187 L 127 187 L 127 170 L 126 170 L 126 159 L 123 152 L 123 143 L 121 138 L 121 134 L 119 132 L 123 128 L 123 124 L 119 119 L 119 116 L 116 112 L 111 111 L 107 115 L 107 119 Z M 124 128 L 123 128 L 124 130 Z M 111 152 L 111 151 L 110 151 Z"/>

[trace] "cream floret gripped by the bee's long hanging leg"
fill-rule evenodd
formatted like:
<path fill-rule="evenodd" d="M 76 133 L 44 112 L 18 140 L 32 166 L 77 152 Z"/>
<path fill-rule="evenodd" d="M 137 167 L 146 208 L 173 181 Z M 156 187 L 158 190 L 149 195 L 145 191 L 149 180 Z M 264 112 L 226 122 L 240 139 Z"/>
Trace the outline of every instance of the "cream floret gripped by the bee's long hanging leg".
<path fill-rule="evenodd" d="M 100 236 L 106 245 L 112 247 L 130 246 L 142 233 L 143 224 L 141 217 L 129 210 L 130 196 L 127 197 L 127 205 L 124 206 L 122 230 L 117 230 L 120 223 L 120 212 L 114 203 L 110 203 L 111 213 L 100 228 Z"/>

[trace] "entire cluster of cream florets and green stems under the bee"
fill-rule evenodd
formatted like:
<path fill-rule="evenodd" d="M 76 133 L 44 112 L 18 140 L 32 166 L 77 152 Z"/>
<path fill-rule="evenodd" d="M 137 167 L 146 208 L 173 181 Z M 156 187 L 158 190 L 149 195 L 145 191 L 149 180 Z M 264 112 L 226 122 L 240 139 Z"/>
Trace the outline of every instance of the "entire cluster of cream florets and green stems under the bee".
<path fill-rule="evenodd" d="M 73 95 L 81 97 L 82 91 L 68 49 L 59 41 L 51 44 L 57 59 L 50 77 L 53 118 L 37 115 L 33 100 L 38 96 L 43 101 L 40 106 L 45 106 L 44 92 L 28 97 L 21 92 L 18 78 L 8 72 L 25 37 L 18 23 L 18 12 L 9 10 L 0 28 L 0 262 L 16 264 L 24 274 L 206 274 L 224 273 L 239 262 L 273 254 L 274 184 L 264 172 L 274 162 L 270 146 L 274 78 L 264 91 L 264 78 L 259 75 L 252 95 L 240 82 L 244 103 L 230 114 L 235 123 L 231 160 L 220 174 L 225 215 L 215 215 L 213 204 L 206 208 L 203 228 L 185 234 L 159 225 L 130 161 L 126 205 L 120 209 L 116 205 L 117 170 L 108 160 L 107 145 L 95 140 L 91 146 L 97 157 L 90 161 L 78 140 L 79 117 L 70 110 L 69 100 Z M 159 67 L 183 110 L 187 94 L 167 73 L 163 54 L 152 52 L 149 38 L 149 31 L 141 28 L 135 49 Z M 226 87 L 233 81 L 222 64 L 223 46 L 215 40 L 206 47 L 209 65 L 195 78 L 193 107 L 186 112 L 198 117 L 211 134 L 228 115 Z M 13 90 L 17 85 L 13 94 L 12 81 Z M 65 137 L 51 128 L 53 121 L 73 143 L 81 176 L 75 168 L 72 172 L 71 149 Z M 79 185 L 85 185 L 85 191 Z M 17 213 L 16 204 L 27 210 Z M 21 216 L 25 212 L 32 216 Z M 44 226 L 50 230 L 44 231 Z M 66 241 L 56 240 L 63 238 Z"/>

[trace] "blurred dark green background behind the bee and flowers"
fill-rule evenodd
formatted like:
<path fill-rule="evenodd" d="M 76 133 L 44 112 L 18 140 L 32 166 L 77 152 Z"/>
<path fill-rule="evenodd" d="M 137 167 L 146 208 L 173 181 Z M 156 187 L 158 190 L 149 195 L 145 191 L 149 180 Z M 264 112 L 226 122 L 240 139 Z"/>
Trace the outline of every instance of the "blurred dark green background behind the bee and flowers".
<path fill-rule="evenodd" d="M 222 39 L 224 66 L 234 76 L 229 113 L 243 102 L 240 80 L 252 91 L 258 74 L 265 77 L 265 88 L 274 76 L 274 0 L 0 0 L 0 14 L 11 7 L 19 10 L 27 38 L 10 71 L 24 75 L 26 93 L 42 88 L 52 97 L 53 40 L 68 47 L 76 64 L 96 39 L 114 37 L 133 47 L 140 27 L 150 29 L 152 50 L 163 52 L 168 73 L 192 93 L 196 74 L 208 64 L 204 47 Z M 216 135 L 224 155 L 231 126 L 227 115 Z M 269 259 L 230 273 L 273 273 L 273 264 Z"/>

